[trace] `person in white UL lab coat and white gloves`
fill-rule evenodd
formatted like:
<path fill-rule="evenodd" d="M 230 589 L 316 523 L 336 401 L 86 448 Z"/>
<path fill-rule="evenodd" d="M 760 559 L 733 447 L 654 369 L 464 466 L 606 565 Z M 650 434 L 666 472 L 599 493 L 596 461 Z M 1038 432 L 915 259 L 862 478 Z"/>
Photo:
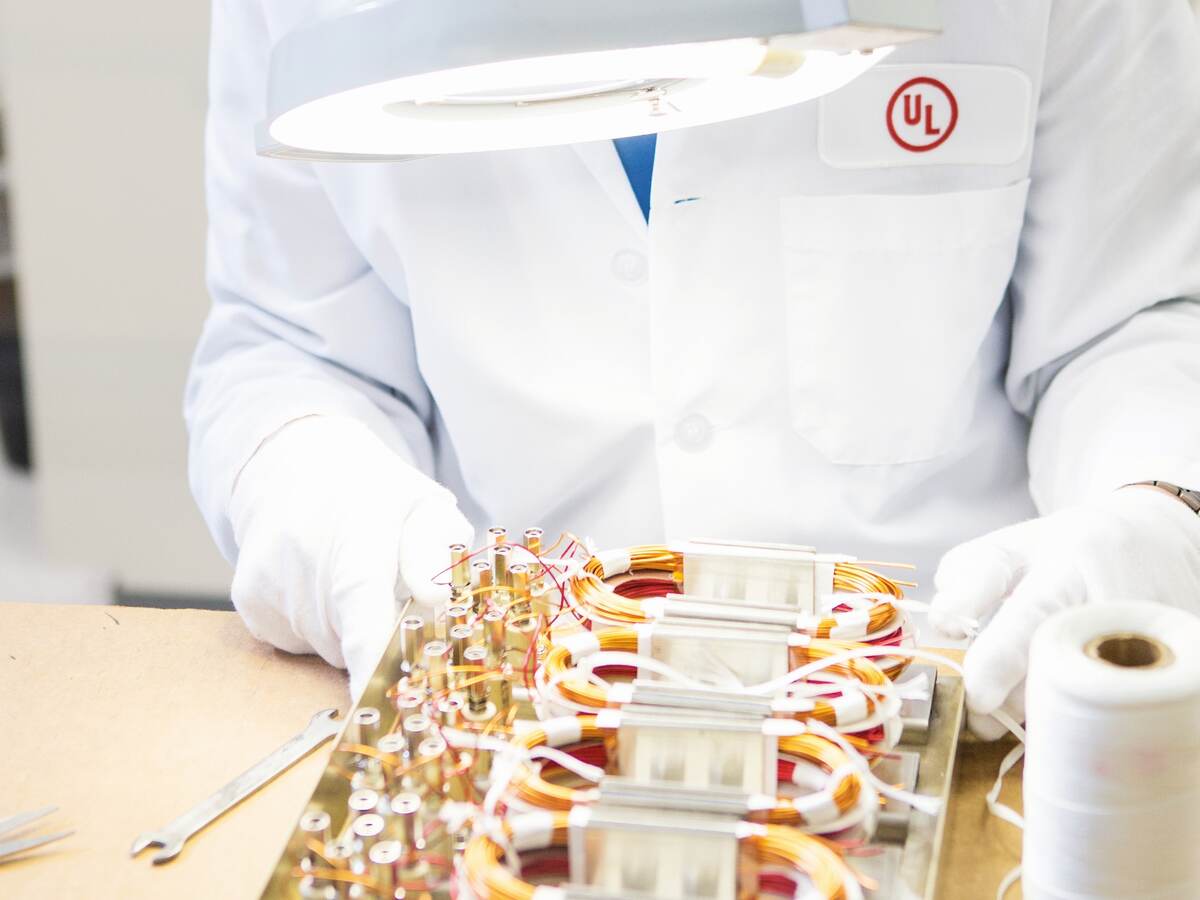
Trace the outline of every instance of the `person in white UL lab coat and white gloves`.
<path fill-rule="evenodd" d="M 815 544 L 936 572 L 988 731 L 1052 611 L 1200 608 L 1187 0 L 946 0 L 817 102 L 656 140 L 260 158 L 271 44 L 329 6 L 214 12 L 186 415 L 258 637 L 356 691 L 491 524 Z"/>

